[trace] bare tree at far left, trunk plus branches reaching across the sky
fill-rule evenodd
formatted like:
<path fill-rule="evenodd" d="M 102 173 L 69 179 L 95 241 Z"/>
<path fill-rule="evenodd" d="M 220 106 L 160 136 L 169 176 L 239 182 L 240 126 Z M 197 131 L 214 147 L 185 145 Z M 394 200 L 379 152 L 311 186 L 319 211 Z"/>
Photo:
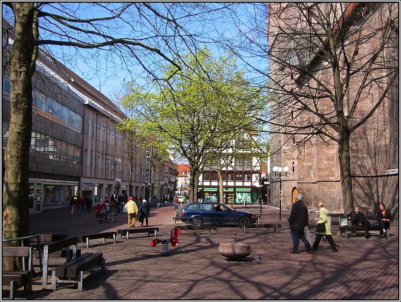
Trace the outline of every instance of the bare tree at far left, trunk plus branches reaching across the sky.
<path fill-rule="evenodd" d="M 201 38 L 199 28 L 191 27 L 191 23 L 207 18 L 212 21 L 230 4 L 4 2 L 2 5 L 3 18 L 11 25 L 13 40 L 3 235 L 14 238 L 29 234 L 32 76 L 40 48 L 66 60 L 73 56 L 93 62 L 103 53 L 113 55 L 120 59 L 115 61 L 120 68 L 135 61 L 143 73 L 160 80 L 163 63 L 179 71 L 181 67 L 176 62 L 182 49 L 193 51 L 198 44 L 211 41 L 208 35 Z M 67 50 L 71 48 L 74 51 L 69 53 Z M 118 72 L 118 68 L 115 70 Z"/>

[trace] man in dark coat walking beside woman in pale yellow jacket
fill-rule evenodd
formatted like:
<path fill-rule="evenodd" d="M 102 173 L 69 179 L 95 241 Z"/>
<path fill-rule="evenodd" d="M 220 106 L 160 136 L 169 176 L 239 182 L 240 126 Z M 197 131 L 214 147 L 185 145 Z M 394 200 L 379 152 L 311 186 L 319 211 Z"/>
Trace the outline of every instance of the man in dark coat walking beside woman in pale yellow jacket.
<path fill-rule="evenodd" d="M 295 195 L 295 199 L 297 201 L 292 205 L 291 214 L 290 217 L 288 217 L 288 222 L 290 223 L 290 229 L 291 229 L 292 244 L 293 244 L 291 253 L 292 254 L 299 253 L 298 250 L 299 239 L 303 241 L 303 243 L 305 244 L 306 252 L 309 253 L 310 243 L 304 236 L 305 226 L 307 226 L 309 223 L 308 208 L 306 204 L 302 201 L 302 195 L 300 193 Z"/>

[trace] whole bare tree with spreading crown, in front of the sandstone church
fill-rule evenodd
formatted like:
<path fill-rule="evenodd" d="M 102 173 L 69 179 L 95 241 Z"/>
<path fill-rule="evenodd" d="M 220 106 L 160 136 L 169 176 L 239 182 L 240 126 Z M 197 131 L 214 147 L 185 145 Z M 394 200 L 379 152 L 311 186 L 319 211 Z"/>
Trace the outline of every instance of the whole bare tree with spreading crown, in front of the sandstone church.
<path fill-rule="evenodd" d="M 294 3 L 270 8 L 272 129 L 295 136 L 303 146 L 316 139 L 337 143 L 343 208 L 350 212 L 350 138 L 391 102 L 389 92 L 398 77 L 398 5 Z"/>

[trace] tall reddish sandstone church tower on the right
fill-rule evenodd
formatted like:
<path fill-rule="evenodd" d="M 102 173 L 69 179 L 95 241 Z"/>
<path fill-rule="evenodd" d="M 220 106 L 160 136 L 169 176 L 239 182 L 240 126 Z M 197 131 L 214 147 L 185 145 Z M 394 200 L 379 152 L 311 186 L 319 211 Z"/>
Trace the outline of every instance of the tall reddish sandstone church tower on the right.
<path fill-rule="evenodd" d="M 398 39 L 398 3 L 269 4 L 271 167 L 289 167 L 283 208 L 300 192 L 309 208 L 348 212 L 348 198 L 368 215 L 379 203 L 398 215 Z M 279 176 L 269 179 L 278 206 Z"/>

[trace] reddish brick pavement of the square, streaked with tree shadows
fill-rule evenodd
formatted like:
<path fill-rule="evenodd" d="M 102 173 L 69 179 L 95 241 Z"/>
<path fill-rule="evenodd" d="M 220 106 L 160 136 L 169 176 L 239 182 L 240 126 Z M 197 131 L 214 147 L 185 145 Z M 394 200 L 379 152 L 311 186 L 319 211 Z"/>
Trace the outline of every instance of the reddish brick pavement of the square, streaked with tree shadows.
<path fill-rule="evenodd" d="M 246 209 L 260 212 L 256 205 Z M 337 253 L 331 251 L 327 241 L 321 241 L 318 251 L 307 254 L 301 243 L 300 253 L 290 254 L 292 242 L 285 222 L 288 215 L 289 211 L 283 209 L 278 233 L 274 229 L 250 229 L 243 234 L 238 227 L 218 227 L 213 235 L 206 230 L 183 230 L 179 246 L 169 245 L 170 256 L 161 255 L 161 244 L 151 247 L 154 237 L 145 233 L 117 238 L 116 244 L 96 239 L 86 248 L 81 243 L 82 252 L 103 252 L 106 273 L 85 273 L 82 292 L 72 281 L 59 281 L 56 291 L 43 290 L 38 277 L 28 299 L 399 300 L 398 223 L 391 225 L 389 239 L 379 238 L 375 231 L 369 239 L 363 232 L 348 239 L 335 233 Z M 151 208 L 149 226 L 160 228 L 158 238 L 169 238 L 174 227 L 172 216 L 173 206 Z M 311 221 L 313 218 L 310 214 Z M 31 215 L 30 224 L 32 233 L 77 235 L 125 228 L 126 220 L 122 213 L 111 223 L 99 223 L 94 209 L 79 216 L 57 209 Z M 264 206 L 261 222 L 278 223 L 279 210 Z M 220 242 L 234 240 L 234 232 L 237 242 L 251 245 L 251 254 L 241 261 L 228 261 L 218 252 Z M 252 264 L 259 256 L 261 263 Z M 3 290 L 3 297 L 8 296 Z M 25 299 L 21 290 L 17 298 Z"/>

